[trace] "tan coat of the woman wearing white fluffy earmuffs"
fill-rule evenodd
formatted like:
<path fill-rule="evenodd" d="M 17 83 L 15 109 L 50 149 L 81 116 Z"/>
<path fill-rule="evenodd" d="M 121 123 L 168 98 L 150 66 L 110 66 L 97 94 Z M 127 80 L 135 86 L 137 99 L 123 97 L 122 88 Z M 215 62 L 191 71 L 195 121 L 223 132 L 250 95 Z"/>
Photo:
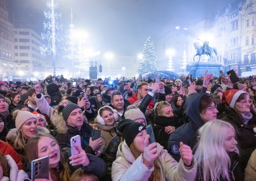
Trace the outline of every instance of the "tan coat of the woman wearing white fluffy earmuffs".
<path fill-rule="evenodd" d="M 116 136 L 117 124 L 118 122 L 115 122 L 115 125 L 110 127 L 107 125 L 101 125 L 99 122 L 97 122 L 98 129 L 100 129 L 100 137 L 102 140 L 102 145 L 100 147 L 101 153 L 105 153 L 108 143 L 111 141 L 112 138 Z"/>

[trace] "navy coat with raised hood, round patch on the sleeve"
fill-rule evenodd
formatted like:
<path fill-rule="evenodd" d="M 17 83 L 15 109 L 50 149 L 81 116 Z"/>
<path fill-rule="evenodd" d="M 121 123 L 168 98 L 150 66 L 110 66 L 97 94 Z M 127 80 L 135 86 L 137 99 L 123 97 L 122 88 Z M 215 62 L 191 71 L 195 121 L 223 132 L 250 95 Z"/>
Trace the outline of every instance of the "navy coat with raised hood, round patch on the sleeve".
<path fill-rule="evenodd" d="M 204 121 L 200 116 L 199 104 L 205 94 L 193 94 L 186 100 L 186 116 L 189 122 L 177 128 L 170 135 L 168 141 L 168 153 L 176 160 L 180 160 L 180 141 L 185 145 L 194 148 L 196 143 L 196 132 L 203 126 Z"/>

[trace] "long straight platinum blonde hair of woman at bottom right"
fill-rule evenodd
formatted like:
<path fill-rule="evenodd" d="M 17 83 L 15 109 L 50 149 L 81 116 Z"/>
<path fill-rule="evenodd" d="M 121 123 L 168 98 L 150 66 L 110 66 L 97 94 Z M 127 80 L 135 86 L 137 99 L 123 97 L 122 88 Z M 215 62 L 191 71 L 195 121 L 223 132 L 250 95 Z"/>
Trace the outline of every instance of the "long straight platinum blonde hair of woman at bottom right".
<path fill-rule="evenodd" d="M 222 120 L 208 121 L 198 130 L 198 142 L 194 148 L 195 158 L 198 162 L 197 179 L 218 181 L 230 180 L 228 169 L 230 167 L 230 158 L 224 148 L 224 141 L 227 136 L 227 130 L 235 129 L 228 122 Z M 235 147 L 235 152 L 238 148 Z"/>

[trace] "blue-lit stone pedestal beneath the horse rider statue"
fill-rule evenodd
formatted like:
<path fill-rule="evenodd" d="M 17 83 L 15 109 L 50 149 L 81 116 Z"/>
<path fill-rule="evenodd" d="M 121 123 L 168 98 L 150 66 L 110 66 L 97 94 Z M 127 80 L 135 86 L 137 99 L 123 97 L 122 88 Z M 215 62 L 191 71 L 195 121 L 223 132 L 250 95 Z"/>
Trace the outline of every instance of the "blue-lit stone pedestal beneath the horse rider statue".
<path fill-rule="evenodd" d="M 219 63 L 214 62 L 196 62 L 192 63 L 189 66 L 189 74 L 192 74 L 192 77 L 198 77 L 204 76 L 205 71 L 208 70 L 208 74 L 211 73 L 215 77 L 220 76 L 219 69 L 222 67 Z"/>

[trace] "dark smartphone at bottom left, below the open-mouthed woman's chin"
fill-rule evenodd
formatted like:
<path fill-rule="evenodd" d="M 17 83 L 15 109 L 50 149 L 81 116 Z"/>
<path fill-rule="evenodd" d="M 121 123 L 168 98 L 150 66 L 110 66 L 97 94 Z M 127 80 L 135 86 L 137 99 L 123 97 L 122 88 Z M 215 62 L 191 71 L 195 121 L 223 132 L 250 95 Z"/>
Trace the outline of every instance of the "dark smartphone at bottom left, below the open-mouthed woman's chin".
<path fill-rule="evenodd" d="M 49 156 L 31 162 L 31 180 L 34 181 L 37 178 L 49 180 Z"/>

